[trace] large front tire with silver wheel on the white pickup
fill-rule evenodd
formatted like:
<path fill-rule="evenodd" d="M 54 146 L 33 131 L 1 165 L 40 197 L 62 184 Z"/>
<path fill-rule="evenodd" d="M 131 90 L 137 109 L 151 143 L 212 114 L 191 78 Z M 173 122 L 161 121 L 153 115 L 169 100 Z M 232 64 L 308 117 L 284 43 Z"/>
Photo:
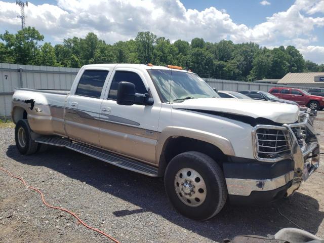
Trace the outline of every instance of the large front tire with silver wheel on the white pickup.
<path fill-rule="evenodd" d="M 165 173 L 167 195 L 184 216 L 207 220 L 218 214 L 227 198 L 221 168 L 214 159 L 196 151 L 171 159 Z"/>

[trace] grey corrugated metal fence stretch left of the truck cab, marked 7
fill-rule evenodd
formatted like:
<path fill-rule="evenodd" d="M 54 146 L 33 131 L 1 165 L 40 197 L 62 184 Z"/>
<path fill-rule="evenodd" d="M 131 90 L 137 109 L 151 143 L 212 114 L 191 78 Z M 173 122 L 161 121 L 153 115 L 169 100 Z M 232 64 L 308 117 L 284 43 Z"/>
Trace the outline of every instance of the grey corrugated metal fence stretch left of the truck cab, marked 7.
<path fill-rule="evenodd" d="M 69 90 L 78 70 L 0 63 L 0 116 L 10 116 L 15 88 Z"/>

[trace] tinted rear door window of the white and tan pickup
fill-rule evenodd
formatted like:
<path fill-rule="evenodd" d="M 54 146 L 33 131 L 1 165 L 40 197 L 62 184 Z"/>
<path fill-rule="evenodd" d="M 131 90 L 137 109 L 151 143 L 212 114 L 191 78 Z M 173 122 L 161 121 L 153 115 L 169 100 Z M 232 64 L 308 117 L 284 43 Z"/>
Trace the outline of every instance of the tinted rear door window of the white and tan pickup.
<path fill-rule="evenodd" d="M 85 70 L 77 85 L 75 95 L 100 98 L 107 70 Z"/>

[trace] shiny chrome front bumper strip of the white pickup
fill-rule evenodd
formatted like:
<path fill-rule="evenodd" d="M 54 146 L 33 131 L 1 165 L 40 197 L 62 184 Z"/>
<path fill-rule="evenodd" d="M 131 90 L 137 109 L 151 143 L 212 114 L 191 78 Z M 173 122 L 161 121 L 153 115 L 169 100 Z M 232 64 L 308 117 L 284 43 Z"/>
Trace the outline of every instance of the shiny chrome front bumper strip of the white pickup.
<path fill-rule="evenodd" d="M 286 185 L 294 179 L 294 171 L 285 175 L 264 180 L 226 178 L 227 191 L 230 195 L 249 196 L 252 191 L 271 191 Z"/>

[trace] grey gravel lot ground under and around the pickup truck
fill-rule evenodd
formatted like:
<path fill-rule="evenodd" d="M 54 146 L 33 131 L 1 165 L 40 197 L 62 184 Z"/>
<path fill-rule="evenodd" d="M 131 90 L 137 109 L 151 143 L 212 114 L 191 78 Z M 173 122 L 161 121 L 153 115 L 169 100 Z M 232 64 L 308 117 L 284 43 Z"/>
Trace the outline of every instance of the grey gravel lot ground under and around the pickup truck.
<path fill-rule="evenodd" d="M 316 129 L 324 148 L 324 111 Z M 324 174 L 315 173 L 292 197 L 268 207 L 226 205 L 215 218 L 184 218 L 169 203 L 163 182 L 71 150 L 22 156 L 12 127 L 0 128 L 0 167 L 41 189 L 53 205 L 75 212 L 121 242 L 215 242 L 238 234 L 274 234 L 296 227 L 324 236 Z M 324 157 L 322 158 L 324 159 Z M 323 163 L 318 172 L 324 173 Z M 0 242 L 110 242 L 70 215 L 49 209 L 39 195 L 0 171 Z"/>

